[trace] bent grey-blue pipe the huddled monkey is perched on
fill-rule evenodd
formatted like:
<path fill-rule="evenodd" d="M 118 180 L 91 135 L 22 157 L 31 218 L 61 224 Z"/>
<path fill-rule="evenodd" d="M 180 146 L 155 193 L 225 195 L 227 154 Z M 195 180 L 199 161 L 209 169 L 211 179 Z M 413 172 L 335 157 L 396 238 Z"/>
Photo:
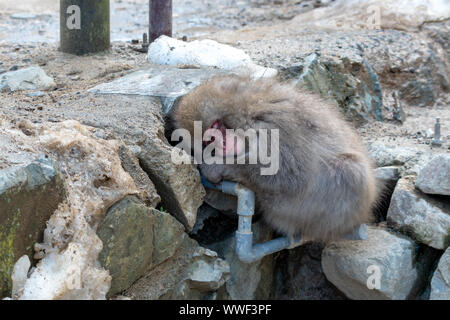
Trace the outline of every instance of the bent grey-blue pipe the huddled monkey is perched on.
<path fill-rule="evenodd" d="M 236 231 L 235 251 L 239 260 L 245 263 L 258 261 L 266 255 L 292 249 L 301 244 L 302 238 L 280 237 L 264 243 L 253 244 L 252 217 L 255 212 L 255 194 L 238 183 L 222 181 L 213 184 L 201 176 L 205 188 L 222 191 L 223 193 L 235 195 L 238 198 L 237 214 L 239 215 L 238 229 Z M 344 238 L 347 240 L 363 240 L 367 238 L 368 229 L 365 224 L 359 226 Z"/>

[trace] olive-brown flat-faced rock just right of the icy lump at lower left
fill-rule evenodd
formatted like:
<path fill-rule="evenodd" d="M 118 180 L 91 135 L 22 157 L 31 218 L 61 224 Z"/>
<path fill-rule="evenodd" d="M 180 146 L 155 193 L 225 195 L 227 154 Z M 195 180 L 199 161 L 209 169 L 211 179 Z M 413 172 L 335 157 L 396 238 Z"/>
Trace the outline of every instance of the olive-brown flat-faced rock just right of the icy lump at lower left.
<path fill-rule="evenodd" d="M 112 206 L 97 229 L 103 241 L 101 265 L 112 277 L 109 294 L 128 289 L 152 263 L 153 214 L 136 197 Z"/>

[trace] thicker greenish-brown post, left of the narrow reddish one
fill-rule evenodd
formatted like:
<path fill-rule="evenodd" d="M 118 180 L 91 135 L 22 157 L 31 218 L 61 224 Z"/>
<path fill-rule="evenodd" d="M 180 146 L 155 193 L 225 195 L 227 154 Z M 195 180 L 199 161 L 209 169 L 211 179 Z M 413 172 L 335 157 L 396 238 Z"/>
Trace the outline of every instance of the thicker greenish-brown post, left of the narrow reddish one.
<path fill-rule="evenodd" d="M 109 0 L 60 0 L 60 50 L 82 55 L 110 46 Z"/>

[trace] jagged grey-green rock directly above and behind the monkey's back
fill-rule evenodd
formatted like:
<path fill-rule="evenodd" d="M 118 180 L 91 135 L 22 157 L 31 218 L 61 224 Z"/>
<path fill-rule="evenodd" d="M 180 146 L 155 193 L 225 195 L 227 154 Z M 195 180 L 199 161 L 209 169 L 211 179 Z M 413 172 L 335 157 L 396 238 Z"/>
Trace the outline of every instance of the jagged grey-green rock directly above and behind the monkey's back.
<path fill-rule="evenodd" d="M 361 123 L 376 118 L 382 120 L 382 92 L 377 74 L 365 60 L 349 62 L 348 59 L 321 59 L 313 53 L 301 65 L 288 68 L 301 73 L 295 82 L 326 98 L 334 99 L 348 119 Z M 358 65 L 358 76 L 347 70 L 346 65 Z M 285 71 L 286 72 L 286 71 Z"/>

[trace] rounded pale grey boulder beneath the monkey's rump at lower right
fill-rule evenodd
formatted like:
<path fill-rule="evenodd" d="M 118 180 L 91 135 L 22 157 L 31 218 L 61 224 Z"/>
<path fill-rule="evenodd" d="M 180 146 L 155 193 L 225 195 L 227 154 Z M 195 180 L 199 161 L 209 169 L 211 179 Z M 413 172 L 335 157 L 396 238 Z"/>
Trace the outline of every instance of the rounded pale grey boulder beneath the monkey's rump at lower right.
<path fill-rule="evenodd" d="M 322 267 L 350 299 L 411 299 L 423 290 L 430 268 L 428 252 L 419 255 L 418 249 L 404 236 L 370 227 L 367 240 L 327 245 Z"/>

